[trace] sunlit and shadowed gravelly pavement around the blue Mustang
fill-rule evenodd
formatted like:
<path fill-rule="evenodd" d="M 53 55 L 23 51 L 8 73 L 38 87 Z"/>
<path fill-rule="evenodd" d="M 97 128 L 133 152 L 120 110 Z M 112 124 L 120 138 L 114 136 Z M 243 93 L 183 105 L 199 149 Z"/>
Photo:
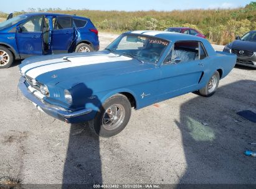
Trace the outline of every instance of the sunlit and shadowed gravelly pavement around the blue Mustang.
<path fill-rule="evenodd" d="M 101 33 L 100 33 L 101 34 Z M 110 37 L 108 37 L 110 35 Z M 101 48 L 115 38 L 100 35 Z M 256 75 L 235 67 L 211 98 L 184 94 L 133 110 L 110 139 L 40 113 L 17 90 L 17 62 L 0 70 L 0 178 L 21 183 L 256 183 Z M 204 124 L 202 124 L 204 123 Z"/>

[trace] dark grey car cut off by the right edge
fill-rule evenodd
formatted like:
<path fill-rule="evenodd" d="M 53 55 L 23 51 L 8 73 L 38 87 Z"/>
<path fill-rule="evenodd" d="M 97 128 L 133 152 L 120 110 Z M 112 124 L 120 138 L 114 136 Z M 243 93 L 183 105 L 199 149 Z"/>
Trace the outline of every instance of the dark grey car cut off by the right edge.
<path fill-rule="evenodd" d="M 256 30 L 225 45 L 223 51 L 237 55 L 237 64 L 256 68 Z"/>

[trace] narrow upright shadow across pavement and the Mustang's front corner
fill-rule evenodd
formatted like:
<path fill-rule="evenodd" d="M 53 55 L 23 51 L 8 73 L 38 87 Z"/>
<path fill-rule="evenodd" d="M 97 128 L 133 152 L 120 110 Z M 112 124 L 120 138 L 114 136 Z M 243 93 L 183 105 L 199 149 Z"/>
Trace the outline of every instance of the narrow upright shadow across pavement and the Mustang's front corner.
<path fill-rule="evenodd" d="M 92 97 L 93 91 L 86 85 L 80 83 L 73 86 L 76 95 L 83 96 L 79 99 L 80 104 L 88 102 Z M 75 102 L 73 99 L 73 103 Z M 97 96 L 90 100 L 94 106 L 100 108 L 102 104 Z M 71 124 L 69 134 L 69 144 L 65 159 L 62 188 L 92 188 L 93 184 L 102 183 L 102 162 L 100 159 L 100 141 L 99 137 L 94 134 L 88 123 Z"/>

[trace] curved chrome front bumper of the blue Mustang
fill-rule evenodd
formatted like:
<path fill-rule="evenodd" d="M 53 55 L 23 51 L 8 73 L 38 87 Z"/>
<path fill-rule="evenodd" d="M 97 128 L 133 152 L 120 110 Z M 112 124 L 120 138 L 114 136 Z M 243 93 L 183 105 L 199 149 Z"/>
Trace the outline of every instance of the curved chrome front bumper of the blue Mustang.
<path fill-rule="evenodd" d="M 84 122 L 90 119 L 93 119 L 93 111 L 92 109 L 82 109 L 79 111 L 63 111 L 58 108 L 58 106 L 53 106 L 49 103 L 46 103 L 44 99 L 37 98 L 34 94 L 32 94 L 29 90 L 27 90 L 27 86 L 25 84 L 25 79 L 21 78 L 19 81 L 19 89 L 22 94 L 26 96 L 27 99 L 31 100 L 32 103 L 39 109 L 50 116 L 60 119 L 69 123 L 76 122 Z"/>

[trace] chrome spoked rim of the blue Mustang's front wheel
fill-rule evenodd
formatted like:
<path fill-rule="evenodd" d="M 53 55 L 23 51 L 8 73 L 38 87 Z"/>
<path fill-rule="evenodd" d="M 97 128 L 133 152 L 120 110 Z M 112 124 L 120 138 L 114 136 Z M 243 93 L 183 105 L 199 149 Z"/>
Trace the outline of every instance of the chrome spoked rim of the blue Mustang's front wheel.
<path fill-rule="evenodd" d="M 125 108 L 121 104 L 110 106 L 102 117 L 103 127 L 107 130 L 114 130 L 119 127 L 125 119 Z"/>

